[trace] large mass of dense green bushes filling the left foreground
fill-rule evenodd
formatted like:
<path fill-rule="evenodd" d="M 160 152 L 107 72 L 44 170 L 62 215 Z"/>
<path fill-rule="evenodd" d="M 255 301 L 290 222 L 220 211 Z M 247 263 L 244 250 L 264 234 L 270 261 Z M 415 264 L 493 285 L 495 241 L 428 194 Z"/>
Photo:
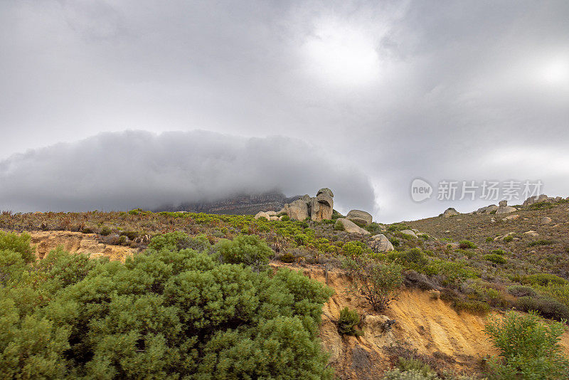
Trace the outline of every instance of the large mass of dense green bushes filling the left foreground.
<path fill-rule="evenodd" d="M 0 250 L 3 378 L 331 378 L 316 337 L 331 290 L 300 273 L 223 264 L 179 234 L 125 263 L 26 264 L 26 242 L 0 237 L 16 249 Z"/>

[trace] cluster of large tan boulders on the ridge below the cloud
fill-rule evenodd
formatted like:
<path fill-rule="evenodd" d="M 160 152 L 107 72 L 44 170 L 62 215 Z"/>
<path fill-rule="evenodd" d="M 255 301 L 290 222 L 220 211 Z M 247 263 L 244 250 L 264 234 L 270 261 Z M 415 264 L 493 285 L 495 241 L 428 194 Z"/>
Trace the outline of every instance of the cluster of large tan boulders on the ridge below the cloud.
<path fill-rule="evenodd" d="M 324 187 L 320 189 L 316 196 L 309 196 L 308 194 L 302 196 L 296 201 L 292 201 L 280 211 L 260 211 L 255 215 L 255 219 L 267 218 L 267 220 L 275 221 L 288 216 L 297 221 L 304 221 L 310 219 L 312 221 L 322 221 L 324 219 L 331 219 L 332 212 L 334 211 L 334 193 Z"/>

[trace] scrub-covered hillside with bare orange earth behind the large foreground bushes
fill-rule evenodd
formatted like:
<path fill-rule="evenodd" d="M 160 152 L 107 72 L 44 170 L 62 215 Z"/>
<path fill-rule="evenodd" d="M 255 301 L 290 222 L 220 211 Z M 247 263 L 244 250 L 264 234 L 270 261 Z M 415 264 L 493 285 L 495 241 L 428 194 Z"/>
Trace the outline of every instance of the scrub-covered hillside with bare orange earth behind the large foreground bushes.
<path fill-rule="evenodd" d="M 269 221 L 141 210 L 4 212 L 0 228 L 28 231 L 38 258 L 62 246 L 122 262 L 172 231 L 201 236 L 212 245 L 257 236 L 271 248 L 272 268 L 299 270 L 334 290 L 322 309 L 319 337 L 340 379 L 378 379 L 403 359 L 428 364 L 442 379 L 454 379 L 450 374 L 476 378 L 488 370 L 488 358 L 497 354 L 484 333 L 489 318 L 503 318 L 511 309 L 536 310 L 549 320 L 569 316 L 568 205 L 558 200 L 501 215 L 359 223 L 360 233 L 342 231 L 337 213 L 333 220 Z M 397 268 L 402 286 L 393 288 L 387 307 L 376 310 L 350 290 L 360 275 L 349 265 L 364 265 L 358 267 L 360 273 L 365 265 Z M 346 306 L 361 317 L 359 335 L 339 333 Z M 569 356 L 567 329 L 560 343 Z"/>

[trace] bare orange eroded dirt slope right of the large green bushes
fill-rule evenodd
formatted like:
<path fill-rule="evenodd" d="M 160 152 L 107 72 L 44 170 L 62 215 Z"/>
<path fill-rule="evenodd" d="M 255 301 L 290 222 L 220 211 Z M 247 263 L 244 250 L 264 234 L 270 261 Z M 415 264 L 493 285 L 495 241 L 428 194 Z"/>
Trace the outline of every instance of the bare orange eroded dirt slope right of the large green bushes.
<path fill-rule="evenodd" d="M 397 354 L 405 350 L 416 350 L 440 369 L 470 374 L 479 368 L 484 357 L 496 354 L 483 329 L 486 318 L 499 317 L 499 313 L 487 317 L 457 313 L 430 292 L 404 290 L 385 315 L 378 315 L 346 292 L 349 278 L 341 272 L 326 272 L 317 266 L 289 268 L 302 270 L 304 275 L 336 291 L 324 305 L 320 336 L 340 379 L 378 379 L 393 366 Z M 363 315 L 361 337 L 341 336 L 337 332 L 336 321 L 346 306 Z M 389 320 L 395 323 L 386 328 Z M 569 332 L 563 335 L 562 344 L 569 354 Z"/>

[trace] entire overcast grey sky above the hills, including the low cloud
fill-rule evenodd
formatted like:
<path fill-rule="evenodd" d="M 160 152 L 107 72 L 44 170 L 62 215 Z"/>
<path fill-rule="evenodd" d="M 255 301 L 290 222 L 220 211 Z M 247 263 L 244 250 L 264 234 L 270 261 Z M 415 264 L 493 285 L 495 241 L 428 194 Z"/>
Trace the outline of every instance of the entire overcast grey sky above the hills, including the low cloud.
<path fill-rule="evenodd" d="M 392 223 L 569 196 L 568 19 L 565 0 L 1 1 L 0 209 L 329 187 Z"/>

